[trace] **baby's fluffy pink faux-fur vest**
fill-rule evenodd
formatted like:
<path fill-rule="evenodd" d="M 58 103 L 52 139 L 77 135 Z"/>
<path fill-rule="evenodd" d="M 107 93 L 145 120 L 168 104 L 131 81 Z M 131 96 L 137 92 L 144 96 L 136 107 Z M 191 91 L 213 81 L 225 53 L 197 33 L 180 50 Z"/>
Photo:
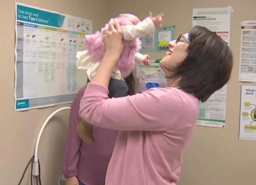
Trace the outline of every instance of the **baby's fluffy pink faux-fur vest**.
<path fill-rule="evenodd" d="M 125 17 L 118 17 L 117 19 L 121 26 L 133 25 Z M 109 23 L 114 24 L 114 19 L 110 19 Z M 102 35 L 108 30 L 109 23 L 107 23 L 104 28 L 101 28 L 101 32 L 96 31 L 95 34 L 85 36 L 86 40 L 84 46 L 90 53 L 90 56 L 98 61 L 102 60 L 106 50 Z M 122 77 L 126 77 L 132 72 L 135 65 L 135 53 L 141 48 L 140 45 L 141 42 L 139 41 L 139 38 L 132 41 L 124 41 L 123 52 L 117 62 L 117 68 L 120 70 Z"/>

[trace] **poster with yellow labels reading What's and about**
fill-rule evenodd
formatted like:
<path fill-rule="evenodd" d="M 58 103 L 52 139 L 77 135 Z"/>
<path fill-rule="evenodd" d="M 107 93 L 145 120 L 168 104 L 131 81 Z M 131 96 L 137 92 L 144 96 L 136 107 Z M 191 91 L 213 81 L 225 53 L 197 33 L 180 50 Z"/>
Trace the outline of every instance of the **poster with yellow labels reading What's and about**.
<path fill-rule="evenodd" d="M 256 140 L 256 86 L 241 86 L 239 139 Z"/>

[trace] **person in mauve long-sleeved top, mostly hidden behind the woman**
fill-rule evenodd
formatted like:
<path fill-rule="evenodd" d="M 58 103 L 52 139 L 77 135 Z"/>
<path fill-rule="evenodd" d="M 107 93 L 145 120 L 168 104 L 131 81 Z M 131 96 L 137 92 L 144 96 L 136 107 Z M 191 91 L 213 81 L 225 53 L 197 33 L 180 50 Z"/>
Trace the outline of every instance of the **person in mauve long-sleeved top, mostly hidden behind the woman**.
<path fill-rule="evenodd" d="M 109 97 L 133 95 L 136 91 L 133 73 L 124 79 L 113 79 L 110 83 Z M 115 87 L 115 88 L 113 88 Z M 66 185 L 103 185 L 107 166 L 115 145 L 117 131 L 93 126 L 94 144 L 88 144 L 76 133 L 81 120 L 78 110 L 81 97 L 86 86 L 82 87 L 70 110 L 69 128 L 63 160 L 63 174 L 67 178 Z"/>

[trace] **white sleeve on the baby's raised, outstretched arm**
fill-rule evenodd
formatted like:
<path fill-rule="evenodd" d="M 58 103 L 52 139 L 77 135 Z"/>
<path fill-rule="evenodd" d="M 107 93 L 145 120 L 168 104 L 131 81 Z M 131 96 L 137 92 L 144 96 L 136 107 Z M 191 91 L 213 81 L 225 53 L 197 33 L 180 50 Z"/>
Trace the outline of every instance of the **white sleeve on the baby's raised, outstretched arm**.
<path fill-rule="evenodd" d="M 137 37 L 144 37 L 155 31 L 155 26 L 150 17 L 147 17 L 137 25 L 121 26 L 123 39 L 125 41 L 134 40 Z"/>

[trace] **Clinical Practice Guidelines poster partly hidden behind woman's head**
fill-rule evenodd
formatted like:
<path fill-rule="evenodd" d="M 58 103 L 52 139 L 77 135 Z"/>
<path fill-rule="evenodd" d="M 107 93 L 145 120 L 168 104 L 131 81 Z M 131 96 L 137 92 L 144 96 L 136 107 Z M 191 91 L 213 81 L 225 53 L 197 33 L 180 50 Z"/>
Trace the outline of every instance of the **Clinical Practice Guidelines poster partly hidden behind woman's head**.
<path fill-rule="evenodd" d="M 230 12 L 227 8 L 193 9 L 193 26 L 203 26 L 215 32 L 229 45 Z M 225 127 L 227 85 L 199 104 L 197 125 Z"/>

